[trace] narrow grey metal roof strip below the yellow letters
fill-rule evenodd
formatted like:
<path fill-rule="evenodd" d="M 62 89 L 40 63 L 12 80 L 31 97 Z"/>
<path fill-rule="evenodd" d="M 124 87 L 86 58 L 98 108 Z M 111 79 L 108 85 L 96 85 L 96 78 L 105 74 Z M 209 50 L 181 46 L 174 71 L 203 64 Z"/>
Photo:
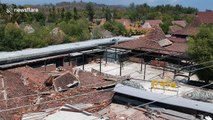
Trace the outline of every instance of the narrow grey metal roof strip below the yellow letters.
<path fill-rule="evenodd" d="M 169 95 L 163 95 L 163 94 L 153 93 L 149 91 L 143 91 L 143 90 L 125 86 L 122 84 L 117 84 L 114 88 L 114 91 L 117 93 L 129 95 L 129 96 L 133 96 L 137 98 L 147 99 L 151 101 L 158 101 L 164 104 L 194 109 L 194 110 L 213 114 L 212 103 L 200 102 L 200 101 L 190 100 L 190 99 L 181 98 L 177 96 L 169 96 Z"/>

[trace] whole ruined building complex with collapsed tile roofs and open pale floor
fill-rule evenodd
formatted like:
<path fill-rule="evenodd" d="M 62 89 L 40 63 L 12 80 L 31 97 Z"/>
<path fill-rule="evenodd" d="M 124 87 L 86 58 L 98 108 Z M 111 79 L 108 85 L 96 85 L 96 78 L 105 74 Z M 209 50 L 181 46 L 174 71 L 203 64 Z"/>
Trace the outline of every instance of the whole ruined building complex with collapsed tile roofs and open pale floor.
<path fill-rule="evenodd" d="M 2 119 L 23 120 L 210 116 L 212 110 L 205 107 L 212 106 L 212 91 L 182 82 L 198 80 L 187 69 L 180 71 L 192 64 L 186 50 L 186 39 L 166 37 L 154 26 L 140 38 L 0 53 L 0 115 Z M 189 90 L 192 92 L 183 94 Z M 179 104 L 185 101 L 189 104 Z"/>

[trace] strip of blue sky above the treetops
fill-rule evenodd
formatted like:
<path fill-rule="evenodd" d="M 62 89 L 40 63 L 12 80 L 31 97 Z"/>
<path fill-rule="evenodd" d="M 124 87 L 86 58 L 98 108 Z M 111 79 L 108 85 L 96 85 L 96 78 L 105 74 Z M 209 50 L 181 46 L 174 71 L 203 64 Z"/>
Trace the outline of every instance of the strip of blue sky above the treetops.
<path fill-rule="evenodd" d="M 58 3 L 63 1 L 72 2 L 74 0 L 0 0 L 2 3 L 14 3 L 18 5 L 24 4 L 48 4 L 48 3 Z M 80 1 L 80 0 L 75 0 Z M 129 5 L 130 3 L 143 4 L 147 3 L 151 6 L 162 5 L 162 4 L 171 4 L 176 5 L 180 4 L 185 7 L 195 7 L 200 11 L 206 9 L 213 10 L 213 0 L 82 0 L 84 2 L 96 2 L 103 3 L 107 5 Z"/>

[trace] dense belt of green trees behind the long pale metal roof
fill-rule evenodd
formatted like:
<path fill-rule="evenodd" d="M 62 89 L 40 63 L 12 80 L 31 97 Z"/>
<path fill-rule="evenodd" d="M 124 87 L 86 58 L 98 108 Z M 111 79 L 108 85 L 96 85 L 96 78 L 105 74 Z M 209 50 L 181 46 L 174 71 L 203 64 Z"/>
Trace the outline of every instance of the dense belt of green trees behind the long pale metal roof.
<path fill-rule="evenodd" d="M 14 8 L 26 7 L 12 6 Z M 98 8 L 96 4 L 88 3 L 85 9 L 78 10 L 76 7 L 70 10 L 55 5 L 42 7 L 43 9 L 41 10 L 43 11 L 38 13 L 14 13 L 9 15 L 5 11 L 7 5 L 0 4 L 0 50 L 19 50 L 87 40 L 91 38 L 90 33 L 92 33 L 93 38 L 100 38 L 102 37 L 101 32 L 104 30 L 94 29 L 96 26 L 92 22 L 96 18 L 106 18 L 108 22 L 104 24 L 103 28 L 111 31 L 114 35 L 130 36 L 144 33 L 144 31 L 140 30 L 127 31 L 122 24 L 113 22 L 114 19 L 120 18 L 129 18 L 132 21 L 160 19 L 164 23 L 161 27 L 167 33 L 172 20 L 185 19 L 187 22 L 191 22 L 194 16 L 188 14 L 193 14 L 197 11 L 197 9 L 180 5 L 150 7 L 147 4 L 130 4 L 127 8 Z M 89 21 L 85 20 L 86 18 L 89 19 L 90 24 Z M 18 28 L 17 25 L 13 24 L 15 22 L 21 24 L 21 27 Z M 100 25 L 100 22 L 97 21 L 97 25 Z M 25 33 L 22 25 L 26 24 L 32 25 L 35 32 L 31 34 Z M 64 34 L 61 31 L 57 36 L 51 37 L 50 32 L 56 27 L 60 27 Z"/>

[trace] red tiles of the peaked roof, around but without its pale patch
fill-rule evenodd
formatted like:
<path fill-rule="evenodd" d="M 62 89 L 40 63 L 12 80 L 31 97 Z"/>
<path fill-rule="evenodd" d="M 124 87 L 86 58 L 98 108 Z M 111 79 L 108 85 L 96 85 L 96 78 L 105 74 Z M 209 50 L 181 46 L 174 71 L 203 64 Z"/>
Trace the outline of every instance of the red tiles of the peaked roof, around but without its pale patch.
<path fill-rule="evenodd" d="M 124 48 L 124 49 L 138 49 L 141 47 L 143 51 L 157 52 L 162 54 L 171 54 L 172 52 L 185 52 L 187 50 L 186 42 L 175 42 L 175 38 L 171 38 L 173 42 L 171 45 L 167 47 L 161 47 L 159 45 L 159 41 L 162 39 L 166 39 L 164 32 L 159 26 L 155 26 L 154 29 L 149 31 L 145 37 L 134 41 L 124 42 L 118 45 L 114 45 L 116 48 Z M 167 38 L 170 40 L 170 38 Z M 168 52 L 170 51 L 170 52 Z"/>

